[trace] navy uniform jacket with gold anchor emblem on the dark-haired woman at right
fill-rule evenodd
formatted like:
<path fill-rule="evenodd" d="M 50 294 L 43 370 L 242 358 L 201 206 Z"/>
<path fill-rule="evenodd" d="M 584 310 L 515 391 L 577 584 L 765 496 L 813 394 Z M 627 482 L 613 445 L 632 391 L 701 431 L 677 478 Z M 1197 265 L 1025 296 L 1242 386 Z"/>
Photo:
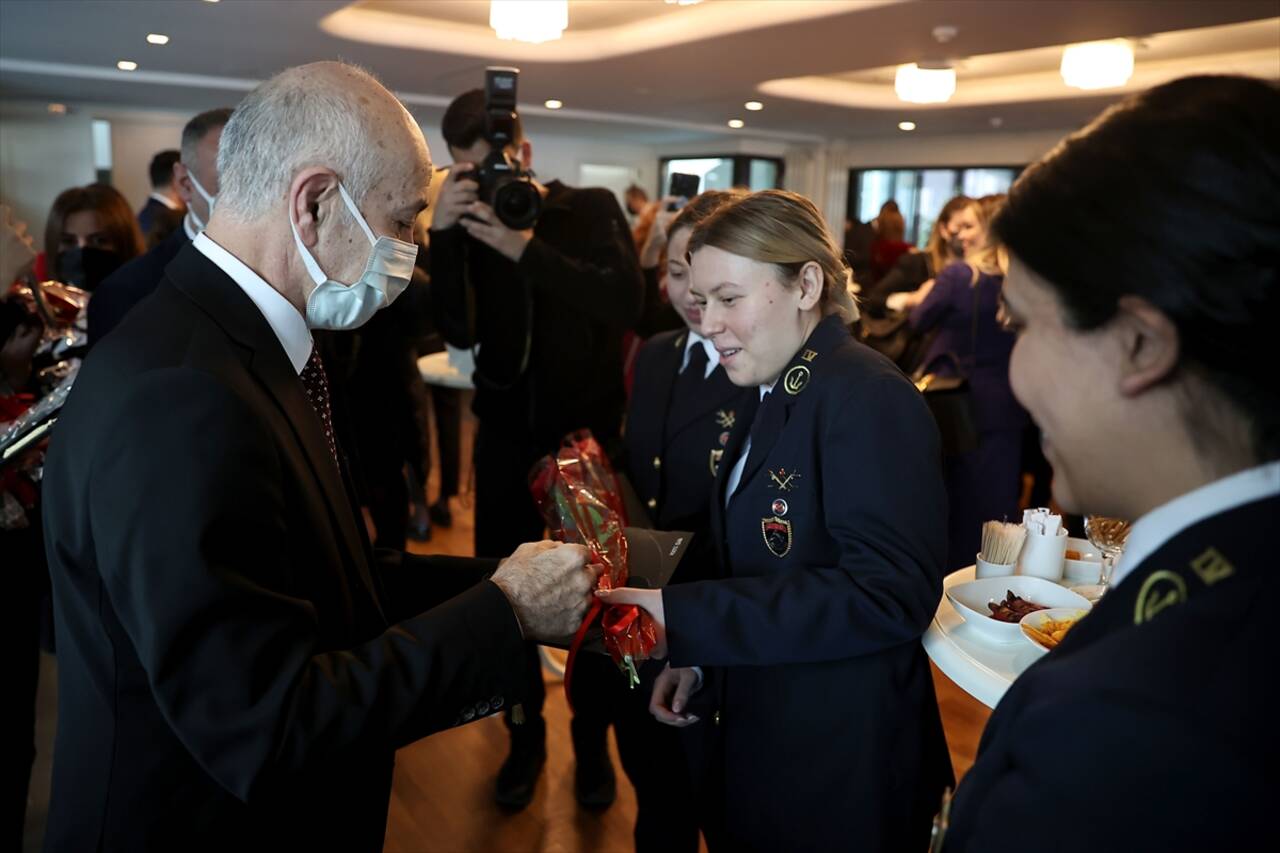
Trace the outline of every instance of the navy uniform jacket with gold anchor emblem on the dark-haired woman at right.
<path fill-rule="evenodd" d="M 1275 835 L 1280 498 L 1134 567 L 987 724 L 946 853 L 1248 850 Z"/>

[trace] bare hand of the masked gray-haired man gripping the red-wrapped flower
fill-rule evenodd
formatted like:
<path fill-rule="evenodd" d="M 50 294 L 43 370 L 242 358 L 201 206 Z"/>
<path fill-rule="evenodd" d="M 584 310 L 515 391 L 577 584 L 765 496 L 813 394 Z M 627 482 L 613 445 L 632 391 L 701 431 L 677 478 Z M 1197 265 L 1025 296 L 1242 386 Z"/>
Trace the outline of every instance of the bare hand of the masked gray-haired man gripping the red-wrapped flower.
<path fill-rule="evenodd" d="M 526 542 L 498 565 L 493 583 L 506 593 L 525 639 L 566 640 L 582 624 L 599 566 L 582 546 Z"/>

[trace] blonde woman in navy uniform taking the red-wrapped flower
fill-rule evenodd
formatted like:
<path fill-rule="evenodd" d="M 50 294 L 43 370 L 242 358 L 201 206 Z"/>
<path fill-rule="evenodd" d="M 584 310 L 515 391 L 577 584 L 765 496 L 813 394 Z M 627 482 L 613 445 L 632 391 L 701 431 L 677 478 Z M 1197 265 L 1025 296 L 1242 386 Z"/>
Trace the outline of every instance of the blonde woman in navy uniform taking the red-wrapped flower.
<path fill-rule="evenodd" d="M 686 727 L 712 850 L 911 850 L 951 783 L 920 635 L 946 492 L 920 394 L 854 341 L 817 207 L 769 190 L 690 240 L 739 412 L 712 503 L 721 576 L 625 589 L 664 628 L 650 711 Z"/>

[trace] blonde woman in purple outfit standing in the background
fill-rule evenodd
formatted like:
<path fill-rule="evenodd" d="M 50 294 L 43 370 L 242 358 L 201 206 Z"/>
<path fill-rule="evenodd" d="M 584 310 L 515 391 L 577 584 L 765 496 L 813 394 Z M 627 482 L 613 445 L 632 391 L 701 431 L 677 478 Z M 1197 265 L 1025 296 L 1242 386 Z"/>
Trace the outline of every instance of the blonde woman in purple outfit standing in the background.
<path fill-rule="evenodd" d="M 925 371 L 966 375 L 978 421 L 978 447 L 943 460 L 951 505 L 947 571 L 973 564 L 982 523 L 1014 519 L 1021 493 L 1023 429 L 1028 419 L 1009 387 L 1014 336 L 1001 328 L 996 316 L 1004 277 L 987 238 L 987 225 L 1004 200 L 986 196 L 956 214 L 965 260 L 951 264 L 932 286 L 927 282 L 908 297 L 911 328 L 920 334 L 933 333 L 922 362 Z"/>

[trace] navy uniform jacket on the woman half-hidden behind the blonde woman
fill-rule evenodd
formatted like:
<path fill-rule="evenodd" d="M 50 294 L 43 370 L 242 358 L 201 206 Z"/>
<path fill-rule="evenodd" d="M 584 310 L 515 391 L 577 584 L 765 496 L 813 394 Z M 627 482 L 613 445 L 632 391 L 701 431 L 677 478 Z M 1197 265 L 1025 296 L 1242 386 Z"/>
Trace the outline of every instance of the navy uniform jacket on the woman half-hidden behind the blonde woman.
<path fill-rule="evenodd" d="M 627 410 L 627 474 L 659 530 L 705 532 L 712 487 L 741 401 L 750 396 L 717 366 L 698 405 L 676 407 L 676 378 L 687 330 L 655 334 L 636 356 Z"/>

